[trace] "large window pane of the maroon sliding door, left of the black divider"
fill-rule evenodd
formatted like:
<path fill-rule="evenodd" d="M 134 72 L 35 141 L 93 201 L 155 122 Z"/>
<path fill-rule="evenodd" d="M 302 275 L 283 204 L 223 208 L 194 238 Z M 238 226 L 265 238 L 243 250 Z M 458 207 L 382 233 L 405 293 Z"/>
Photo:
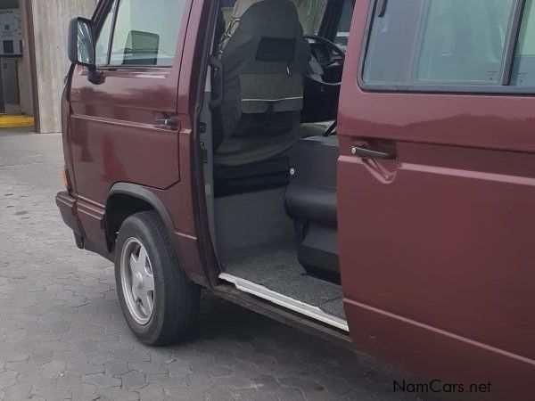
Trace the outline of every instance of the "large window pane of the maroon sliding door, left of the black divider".
<path fill-rule="evenodd" d="M 366 83 L 496 85 L 514 0 L 390 0 L 375 15 Z"/>

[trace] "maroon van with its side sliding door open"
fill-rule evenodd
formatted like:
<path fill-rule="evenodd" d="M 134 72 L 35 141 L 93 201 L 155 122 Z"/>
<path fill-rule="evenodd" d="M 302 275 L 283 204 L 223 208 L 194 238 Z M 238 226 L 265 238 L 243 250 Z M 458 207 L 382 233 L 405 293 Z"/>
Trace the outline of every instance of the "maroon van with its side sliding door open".
<path fill-rule="evenodd" d="M 56 201 L 139 340 L 204 288 L 531 397 L 533 0 L 102 0 L 69 53 Z"/>

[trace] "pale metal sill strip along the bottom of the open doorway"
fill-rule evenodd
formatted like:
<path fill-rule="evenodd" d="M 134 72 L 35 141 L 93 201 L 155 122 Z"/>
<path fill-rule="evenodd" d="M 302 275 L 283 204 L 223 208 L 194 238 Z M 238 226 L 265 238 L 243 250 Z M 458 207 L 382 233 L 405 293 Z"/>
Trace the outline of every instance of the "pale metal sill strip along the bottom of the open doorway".
<path fill-rule="evenodd" d="M 271 291 L 262 285 L 255 284 L 254 282 L 250 282 L 248 280 L 243 280 L 242 278 L 236 277 L 232 274 L 219 274 L 219 279 L 234 284 L 235 287 L 240 291 L 247 292 L 248 294 L 254 295 L 255 297 L 259 297 L 261 299 L 266 299 L 269 302 L 278 305 L 279 307 L 285 307 L 286 309 L 290 309 L 300 315 L 308 316 L 319 322 L 336 327 L 337 329 L 350 331 L 348 323 L 345 320 L 341 319 L 340 317 L 329 315 L 319 307 L 314 307 L 312 305 L 305 304 L 300 300 L 286 297 L 279 292 Z"/>

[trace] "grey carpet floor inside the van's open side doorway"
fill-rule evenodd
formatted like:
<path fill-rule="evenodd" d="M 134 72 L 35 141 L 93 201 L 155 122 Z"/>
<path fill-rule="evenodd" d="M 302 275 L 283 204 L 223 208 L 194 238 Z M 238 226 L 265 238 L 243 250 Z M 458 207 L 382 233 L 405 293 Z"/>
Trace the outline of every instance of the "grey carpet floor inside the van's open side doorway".
<path fill-rule="evenodd" d="M 226 273 L 345 319 L 342 286 L 309 276 L 296 250 L 249 249 L 223 259 Z"/>

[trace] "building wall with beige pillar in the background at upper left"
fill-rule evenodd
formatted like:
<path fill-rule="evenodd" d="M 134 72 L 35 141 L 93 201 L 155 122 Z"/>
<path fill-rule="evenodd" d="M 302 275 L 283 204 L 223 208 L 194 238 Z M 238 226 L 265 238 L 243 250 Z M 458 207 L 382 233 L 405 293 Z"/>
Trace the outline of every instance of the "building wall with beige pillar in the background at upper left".
<path fill-rule="evenodd" d="M 0 0 L 0 113 L 33 116 L 39 133 L 61 131 L 69 21 L 91 16 L 96 3 Z"/>

